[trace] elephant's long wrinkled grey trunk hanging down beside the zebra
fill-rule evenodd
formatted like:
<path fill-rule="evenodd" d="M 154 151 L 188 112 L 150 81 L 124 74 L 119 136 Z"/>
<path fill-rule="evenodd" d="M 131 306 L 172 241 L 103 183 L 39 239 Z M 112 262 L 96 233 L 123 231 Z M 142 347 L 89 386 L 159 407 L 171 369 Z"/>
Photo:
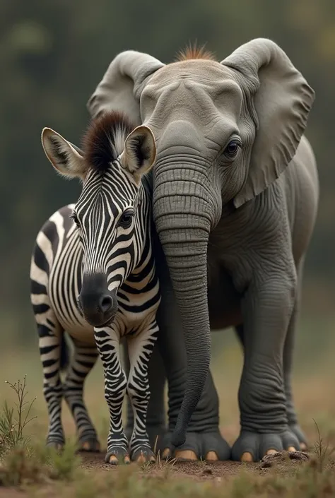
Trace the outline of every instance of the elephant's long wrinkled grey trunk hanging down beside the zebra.
<path fill-rule="evenodd" d="M 181 184 L 187 194 L 176 194 L 180 191 Z M 211 358 L 207 300 L 210 220 L 206 214 L 207 209 L 201 209 L 207 202 L 208 191 L 201 184 L 185 180 L 181 183 L 178 179 L 160 183 L 158 177 L 155 177 L 155 225 L 163 244 L 180 309 L 187 352 L 187 384 L 172 435 L 174 446 L 184 444 L 187 425 L 204 389 Z M 196 213 L 199 208 L 201 213 Z"/>

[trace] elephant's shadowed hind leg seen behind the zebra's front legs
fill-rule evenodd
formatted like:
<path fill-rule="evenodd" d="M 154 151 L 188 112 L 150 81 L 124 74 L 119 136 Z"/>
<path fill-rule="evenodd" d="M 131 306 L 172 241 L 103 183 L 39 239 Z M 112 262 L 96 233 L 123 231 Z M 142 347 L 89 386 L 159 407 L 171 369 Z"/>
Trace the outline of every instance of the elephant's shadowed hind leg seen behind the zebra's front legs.
<path fill-rule="evenodd" d="M 124 343 L 124 369 L 129 378 L 129 355 L 127 342 Z M 151 447 L 161 449 L 160 443 L 166 433 L 166 417 L 165 417 L 165 369 L 163 359 L 160 355 L 160 350 L 157 343 L 153 348 L 153 353 L 148 365 L 148 379 L 150 386 L 150 399 L 148 404 L 148 412 L 146 415 L 146 430 L 148 432 Z M 129 396 L 127 393 L 127 427 L 126 434 L 131 439 L 131 434 L 134 428 L 134 411 L 131 407 Z"/>

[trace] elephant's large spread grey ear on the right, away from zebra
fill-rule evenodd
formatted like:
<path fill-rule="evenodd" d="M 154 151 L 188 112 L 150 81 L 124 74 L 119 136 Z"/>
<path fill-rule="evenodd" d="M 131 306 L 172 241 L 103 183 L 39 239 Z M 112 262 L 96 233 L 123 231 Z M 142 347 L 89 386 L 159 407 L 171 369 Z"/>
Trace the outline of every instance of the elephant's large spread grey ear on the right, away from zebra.
<path fill-rule="evenodd" d="M 245 82 L 256 121 L 247 181 L 234 199 L 236 208 L 274 182 L 295 155 L 315 93 L 283 50 L 259 38 L 235 50 L 221 64 Z"/>

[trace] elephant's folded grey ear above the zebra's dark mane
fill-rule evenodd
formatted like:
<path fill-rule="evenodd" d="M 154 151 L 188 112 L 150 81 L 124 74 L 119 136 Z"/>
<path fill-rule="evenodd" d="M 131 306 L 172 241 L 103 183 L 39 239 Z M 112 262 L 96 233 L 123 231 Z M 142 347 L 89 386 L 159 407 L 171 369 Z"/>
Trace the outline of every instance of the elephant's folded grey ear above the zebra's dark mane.
<path fill-rule="evenodd" d="M 121 52 L 108 67 L 87 103 L 95 118 L 102 112 L 123 112 L 134 124 L 141 124 L 139 99 L 146 78 L 164 64 L 151 55 L 134 50 Z"/>

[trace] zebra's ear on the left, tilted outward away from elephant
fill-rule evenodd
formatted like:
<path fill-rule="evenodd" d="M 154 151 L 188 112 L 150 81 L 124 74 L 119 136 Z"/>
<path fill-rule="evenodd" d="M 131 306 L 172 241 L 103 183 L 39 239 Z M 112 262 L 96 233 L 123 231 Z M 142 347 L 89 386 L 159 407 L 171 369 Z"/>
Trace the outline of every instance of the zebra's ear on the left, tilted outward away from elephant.
<path fill-rule="evenodd" d="M 67 178 L 86 177 L 86 161 L 81 150 L 65 140 L 51 128 L 42 130 L 42 146 L 45 155 L 57 172 Z"/>

